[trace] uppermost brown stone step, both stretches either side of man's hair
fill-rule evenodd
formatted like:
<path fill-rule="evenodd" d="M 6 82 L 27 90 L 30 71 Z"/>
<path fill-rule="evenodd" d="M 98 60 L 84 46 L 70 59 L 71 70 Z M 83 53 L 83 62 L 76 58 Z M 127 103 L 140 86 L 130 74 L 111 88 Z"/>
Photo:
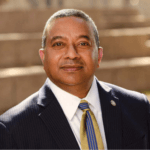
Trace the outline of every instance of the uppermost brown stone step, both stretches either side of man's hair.
<path fill-rule="evenodd" d="M 58 9 L 24 11 L 0 11 L 0 33 L 41 32 L 47 19 Z M 150 21 L 137 10 L 128 9 L 83 9 L 95 21 L 98 29 L 149 26 Z M 8 27 L 6 27 L 8 25 Z"/>

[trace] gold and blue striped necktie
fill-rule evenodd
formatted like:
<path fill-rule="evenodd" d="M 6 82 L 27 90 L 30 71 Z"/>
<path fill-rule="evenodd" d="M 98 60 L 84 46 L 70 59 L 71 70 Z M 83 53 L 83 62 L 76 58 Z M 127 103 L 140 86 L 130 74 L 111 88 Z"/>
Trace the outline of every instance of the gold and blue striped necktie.
<path fill-rule="evenodd" d="M 102 137 L 93 112 L 86 100 L 81 100 L 79 108 L 83 111 L 80 124 L 80 140 L 83 149 L 104 149 Z"/>

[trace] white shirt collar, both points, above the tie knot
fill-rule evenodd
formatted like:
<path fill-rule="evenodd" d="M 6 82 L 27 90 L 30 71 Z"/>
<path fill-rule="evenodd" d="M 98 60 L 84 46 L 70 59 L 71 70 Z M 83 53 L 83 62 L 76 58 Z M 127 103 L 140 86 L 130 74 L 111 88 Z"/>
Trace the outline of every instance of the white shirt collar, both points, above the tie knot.
<path fill-rule="evenodd" d="M 59 88 L 50 79 L 48 79 L 48 85 L 50 86 L 52 92 L 57 98 L 66 117 L 69 120 L 71 120 L 78 109 L 81 99 Z M 96 77 L 94 77 L 92 86 L 87 96 L 83 99 L 88 101 L 88 103 L 90 104 L 90 107 L 94 107 L 94 109 L 97 109 L 97 107 L 99 106 L 97 104 L 97 100 L 99 100 L 99 94 L 97 90 Z"/>

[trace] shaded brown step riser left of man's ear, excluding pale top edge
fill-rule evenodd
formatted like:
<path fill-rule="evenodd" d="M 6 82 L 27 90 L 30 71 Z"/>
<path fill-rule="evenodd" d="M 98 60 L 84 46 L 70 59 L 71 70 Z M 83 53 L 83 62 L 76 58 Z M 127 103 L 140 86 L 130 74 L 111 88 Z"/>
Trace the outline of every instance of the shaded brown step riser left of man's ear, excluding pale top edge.
<path fill-rule="evenodd" d="M 0 41 L 0 67 L 41 65 L 41 40 Z"/>

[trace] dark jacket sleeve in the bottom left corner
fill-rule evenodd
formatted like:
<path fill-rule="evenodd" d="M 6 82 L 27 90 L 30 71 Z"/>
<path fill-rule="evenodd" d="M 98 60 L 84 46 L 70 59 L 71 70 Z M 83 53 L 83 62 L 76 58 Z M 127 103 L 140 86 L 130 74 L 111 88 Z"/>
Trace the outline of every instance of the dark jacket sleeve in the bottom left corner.
<path fill-rule="evenodd" d="M 16 144 L 7 127 L 0 122 L 0 149 L 16 149 Z"/>

